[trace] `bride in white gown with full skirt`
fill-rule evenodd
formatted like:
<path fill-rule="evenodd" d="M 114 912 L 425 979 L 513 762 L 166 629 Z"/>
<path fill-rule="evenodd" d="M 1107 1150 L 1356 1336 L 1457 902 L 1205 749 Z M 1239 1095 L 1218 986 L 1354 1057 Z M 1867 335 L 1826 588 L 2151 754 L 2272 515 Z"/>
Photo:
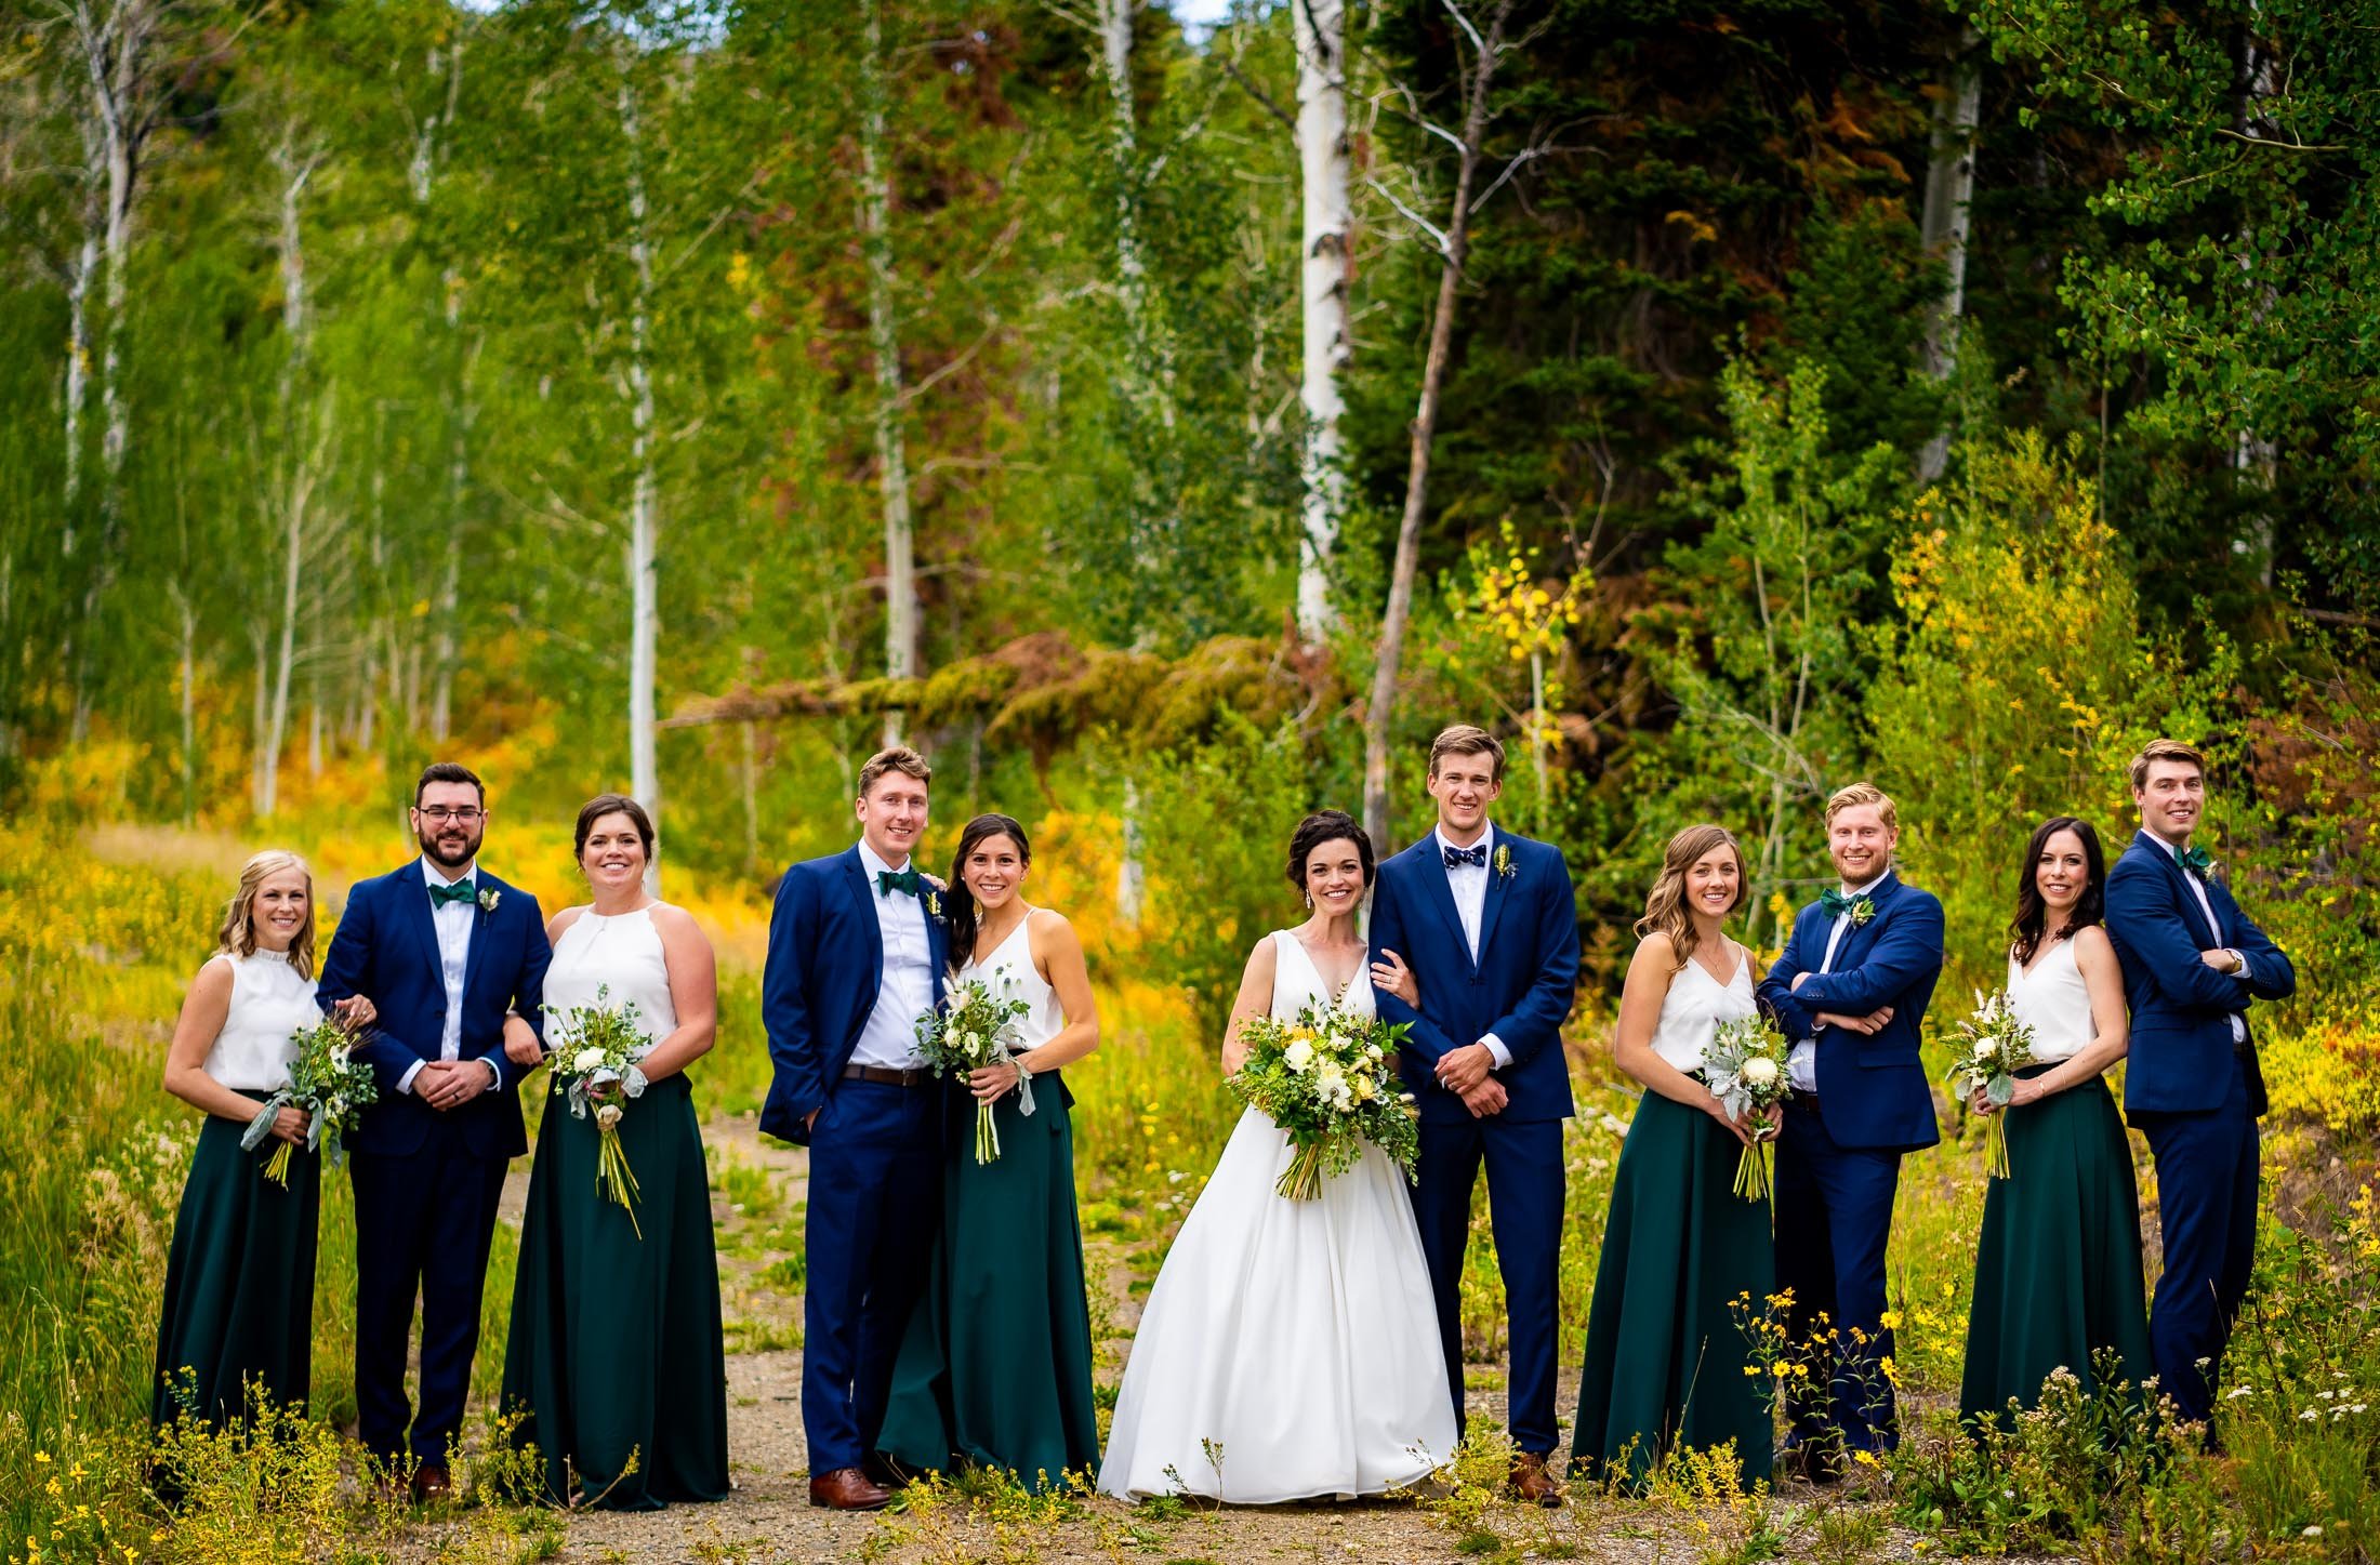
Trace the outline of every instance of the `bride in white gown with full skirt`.
<path fill-rule="evenodd" d="M 1371 842 L 1342 811 L 1307 816 L 1290 885 L 1314 916 L 1257 942 L 1223 1035 L 1335 1004 L 1373 1016 L 1357 913 Z M 1404 1175 L 1378 1146 L 1290 1201 L 1290 1139 L 1250 1108 L 1150 1291 L 1116 1396 L 1100 1489 L 1240 1506 L 1385 1494 L 1454 1453 L 1430 1275 Z"/>

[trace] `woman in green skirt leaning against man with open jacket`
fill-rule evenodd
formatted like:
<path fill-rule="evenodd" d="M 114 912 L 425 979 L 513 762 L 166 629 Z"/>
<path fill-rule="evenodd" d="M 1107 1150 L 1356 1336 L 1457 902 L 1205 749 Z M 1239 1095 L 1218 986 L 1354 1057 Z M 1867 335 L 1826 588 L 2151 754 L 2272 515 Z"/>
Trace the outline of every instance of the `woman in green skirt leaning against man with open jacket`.
<path fill-rule="evenodd" d="M 976 816 L 959 832 L 957 980 L 983 980 L 1033 1008 L 1016 1023 L 1026 1044 L 1016 1063 L 966 1082 L 976 1101 L 997 1104 L 1000 1158 L 978 1165 L 973 1137 L 952 1137 L 942 1232 L 892 1365 L 878 1451 L 921 1470 L 1004 1467 L 1042 1491 L 1100 1465 L 1073 1096 L 1057 1075 L 1100 1047 L 1100 1011 L 1073 925 L 1023 899 L 1031 863 L 1026 828 L 1009 816 Z M 1033 1082 L 1031 1115 L 1016 1096 L 1021 1077 Z"/>

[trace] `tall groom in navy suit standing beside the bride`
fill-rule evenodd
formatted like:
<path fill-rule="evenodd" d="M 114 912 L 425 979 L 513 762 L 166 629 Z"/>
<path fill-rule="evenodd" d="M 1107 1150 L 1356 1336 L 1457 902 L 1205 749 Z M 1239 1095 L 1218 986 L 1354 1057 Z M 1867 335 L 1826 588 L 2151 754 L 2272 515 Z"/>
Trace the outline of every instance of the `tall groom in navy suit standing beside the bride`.
<path fill-rule="evenodd" d="M 1554 1375 L 1561 1270 L 1561 1120 L 1571 1073 L 1561 1023 L 1578 987 L 1578 904 L 1561 849 L 1499 832 L 1504 747 L 1483 728 L 1430 744 L 1438 830 L 1380 866 L 1371 961 L 1399 956 L 1421 1008 L 1380 989 L 1380 1016 L 1411 1032 L 1397 1051 L 1421 1101 L 1414 1218 L 1430 1265 L 1447 1389 L 1464 1415 L 1461 1275 L 1471 1189 L 1488 1165 L 1488 1208 L 1511 1337 L 1511 1484 L 1559 1506 Z M 1376 966 L 1385 975 L 1385 966 Z"/>

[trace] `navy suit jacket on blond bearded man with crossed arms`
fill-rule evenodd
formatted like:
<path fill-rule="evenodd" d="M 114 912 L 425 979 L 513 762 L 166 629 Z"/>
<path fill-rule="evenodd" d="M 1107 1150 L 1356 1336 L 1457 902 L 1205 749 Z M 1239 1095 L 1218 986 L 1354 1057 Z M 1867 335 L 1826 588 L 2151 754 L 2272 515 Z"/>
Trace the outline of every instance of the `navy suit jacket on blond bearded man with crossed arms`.
<path fill-rule="evenodd" d="M 1842 932 L 1830 973 L 1818 968 L 1835 916 L 1818 901 L 1795 913 L 1792 939 L 1761 980 L 1761 1006 L 1787 1039 L 1818 1039 L 1818 1118 L 1837 1146 L 1916 1151 L 1942 1139 L 1918 1058 L 1925 1006 L 1942 978 L 1942 904 L 1899 871 L 1871 897 L 1875 916 Z M 1802 973 L 1811 978 L 1795 992 Z M 1873 1037 L 1814 1020 L 1818 1011 L 1866 1016 L 1883 1006 L 1892 1006 L 1892 1020 Z"/>

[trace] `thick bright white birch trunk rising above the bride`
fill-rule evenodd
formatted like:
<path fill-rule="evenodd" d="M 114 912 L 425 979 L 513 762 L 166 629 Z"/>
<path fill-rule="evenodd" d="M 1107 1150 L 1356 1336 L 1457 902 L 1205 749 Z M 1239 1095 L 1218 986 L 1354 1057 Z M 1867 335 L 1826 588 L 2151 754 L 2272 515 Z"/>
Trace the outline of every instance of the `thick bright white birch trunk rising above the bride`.
<path fill-rule="evenodd" d="M 1347 245 L 1354 202 L 1347 190 L 1347 10 L 1345 0 L 1290 5 L 1297 33 L 1297 166 L 1304 186 L 1304 259 L 1299 314 L 1304 321 L 1307 409 L 1304 538 L 1297 549 L 1297 633 L 1307 645 L 1338 628 L 1330 606 L 1330 554 L 1338 549 L 1347 480 L 1340 466 L 1340 376 L 1347 342 Z"/>

